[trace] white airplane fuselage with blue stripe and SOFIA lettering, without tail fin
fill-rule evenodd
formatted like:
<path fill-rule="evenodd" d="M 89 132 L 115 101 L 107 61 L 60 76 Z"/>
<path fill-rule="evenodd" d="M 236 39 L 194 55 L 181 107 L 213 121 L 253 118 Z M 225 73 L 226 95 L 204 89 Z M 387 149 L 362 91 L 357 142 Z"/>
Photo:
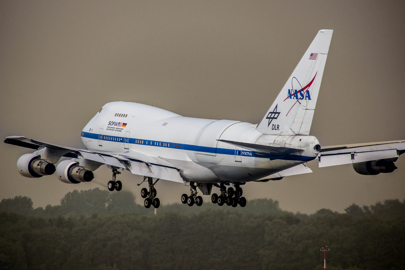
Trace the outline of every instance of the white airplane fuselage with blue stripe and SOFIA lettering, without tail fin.
<path fill-rule="evenodd" d="M 119 116 L 122 115 L 122 116 Z M 126 125 L 125 125 L 126 124 Z M 131 151 L 167 160 L 185 181 L 247 182 L 315 159 L 314 136 L 266 135 L 251 123 L 183 117 L 160 108 L 111 102 L 83 128 L 88 150 L 131 155 Z M 295 155 L 268 156 L 217 140 L 304 149 Z"/>

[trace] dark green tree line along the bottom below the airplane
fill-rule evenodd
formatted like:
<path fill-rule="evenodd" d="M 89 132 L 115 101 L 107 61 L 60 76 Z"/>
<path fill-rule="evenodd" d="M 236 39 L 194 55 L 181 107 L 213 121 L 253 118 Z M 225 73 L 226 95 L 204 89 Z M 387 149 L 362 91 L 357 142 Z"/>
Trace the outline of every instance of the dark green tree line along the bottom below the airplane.
<path fill-rule="evenodd" d="M 45 209 L 27 197 L 3 199 L 0 269 L 321 270 L 326 245 L 330 270 L 405 266 L 405 201 L 352 204 L 344 214 L 294 214 L 271 199 L 158 210 L 100 189 L 69 192 Z"/>

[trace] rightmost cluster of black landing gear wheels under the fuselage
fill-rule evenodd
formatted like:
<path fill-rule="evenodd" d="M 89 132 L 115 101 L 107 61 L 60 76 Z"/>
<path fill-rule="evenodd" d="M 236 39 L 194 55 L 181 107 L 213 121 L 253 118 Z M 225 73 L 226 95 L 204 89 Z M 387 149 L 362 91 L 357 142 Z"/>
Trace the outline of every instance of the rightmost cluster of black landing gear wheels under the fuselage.
<path fill-rule="evenodd" d="M 221 190 L 221 195 L 218 196 L 217 193 L 213 193 L 211 195 L 211 202 L 214 204 L 218 204 L 222 206 L 224 204 L 232 207 L 238 206 L 241 207 L 246 206 L 246 199 L 245 197 L 241 197 L 243 194 L 242 188 L 239 186 L 239 183 L 234 183 L 235 190 L 232 187 L 229 187 L 226 190 L 225 184 L 221 183 L 219 188 Z"/>

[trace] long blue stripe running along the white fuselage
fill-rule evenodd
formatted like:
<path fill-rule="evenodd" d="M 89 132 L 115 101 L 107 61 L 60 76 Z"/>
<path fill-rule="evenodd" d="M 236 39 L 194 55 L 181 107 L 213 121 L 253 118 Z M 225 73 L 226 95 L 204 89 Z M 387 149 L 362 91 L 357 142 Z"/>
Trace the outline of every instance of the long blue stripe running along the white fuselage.
<path fill-rule="evenodd" d="M 186 145 L 181 143 L 173 143 L 173 142 L 163 142 L 157 140 L 143 140 L 143 139 L 136 139 L 136 138 L 124 138 L 119 136 L 108 136 L 102 134 L 95 134 L 90 132 L 81 132 L 81 136 L 84 138 L 90 138 L 95 140 L 104 140 L 104 141 L 111 141 L 111 142 L 120 142 L 120 143 L 129 143 L 133 145 L 148 145 L 154 147 L 164 147 L 164 148 L 174 148 L 174 149 L 183 149 L 188 151 L 196 151 L 202 153 L 217 153 L 223 155 L 235 155 L 235 149 L 226 149 L 226 148 L 215 148 L 215 147 L 205 147 L 205 146 L 198 146 L 198 145 Z M 127 140 L 127 141 L 126 141 Z M 238 150 L 240 151 L 238 155 L 243 157 L 260 157 L 266 159 L 284 159 L 284 160 L 297 160 L 297 161 L 311 161 L 315 159 L 315 157 L 307 157 L 305 155 L 258 155 L 253 151 L 247 150 Z"/>

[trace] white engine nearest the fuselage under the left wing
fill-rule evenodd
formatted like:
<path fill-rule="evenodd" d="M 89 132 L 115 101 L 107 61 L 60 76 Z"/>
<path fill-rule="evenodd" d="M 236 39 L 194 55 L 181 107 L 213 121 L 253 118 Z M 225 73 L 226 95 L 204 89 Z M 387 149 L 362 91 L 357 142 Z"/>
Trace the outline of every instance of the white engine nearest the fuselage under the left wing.
<path fill-rule="evenodd" d="M 61 161 L 56 167 L 58 179 L 67 184 L 78 184 L 80 182 L 90 182 L 94 178 L 92 171 L 79 166 L 71 159 Z"/>

